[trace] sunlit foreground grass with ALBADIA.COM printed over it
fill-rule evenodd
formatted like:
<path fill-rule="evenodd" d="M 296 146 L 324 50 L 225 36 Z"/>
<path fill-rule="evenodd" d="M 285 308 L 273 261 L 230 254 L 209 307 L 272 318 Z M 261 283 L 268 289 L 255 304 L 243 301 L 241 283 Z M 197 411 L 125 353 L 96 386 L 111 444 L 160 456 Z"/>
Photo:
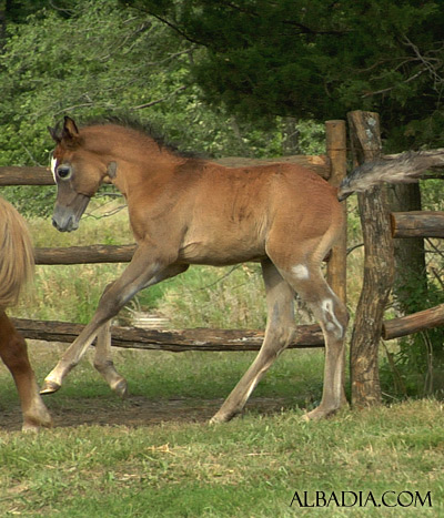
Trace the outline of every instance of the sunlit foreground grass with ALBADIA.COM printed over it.
<path fill-rule="evenodd" d="M 170 370 L 168 363 L 164 368 Z M 132 374 L 133 383 L 143 385 L 138 376 Z M 206 376 L 199 370 L 195 378 L 203 392 L 194 395 L 208 397 Z M 151 380 L 162 393 L 162 383 Z M 80 390 L 70 396 L 75 406 L 90 382 L 73 383 Z M 97 397 L 107 405 L 109 396 Z M 433 516 L 440 516 L 442 410 L 441 404 L 422 400 L 347 410 L 321 423 L 303 421 L 295 408 L 248 413 L 215 427 L 170 420 L 137 428 L 58 428 L 37 437 L 0 431 L 1 516 L 286 517 L 327 510 L 290 508 L 296 490 L 309 491 L 311 500 L 316 491 L 372 491 L 376 499 L 385 491 L 431 491 Z M 329 510 L 333 516 L 347 511 Z M 383 516 L 411 511 L 384 508 Z M 431 510 L 416 510 L 425 511 Z"/>

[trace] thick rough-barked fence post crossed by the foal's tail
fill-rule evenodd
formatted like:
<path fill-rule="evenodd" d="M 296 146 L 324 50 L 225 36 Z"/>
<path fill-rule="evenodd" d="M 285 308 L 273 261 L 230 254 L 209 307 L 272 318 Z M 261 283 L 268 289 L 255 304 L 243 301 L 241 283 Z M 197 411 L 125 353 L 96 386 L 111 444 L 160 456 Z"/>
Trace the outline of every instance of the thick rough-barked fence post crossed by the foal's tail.
<path fill-rule="evenodd" d="M 381 155 L 377 113 L 349 113 L 352 150 L 357 163 Z M 364 281 L 357 304 L 350 346 L 352 404 L 357 407 L 381 403 L 377 352 L 384 308 L 393 285 L 393 240 L 383 187 L 359 194 L 360 216 L 365 246 Z"/>

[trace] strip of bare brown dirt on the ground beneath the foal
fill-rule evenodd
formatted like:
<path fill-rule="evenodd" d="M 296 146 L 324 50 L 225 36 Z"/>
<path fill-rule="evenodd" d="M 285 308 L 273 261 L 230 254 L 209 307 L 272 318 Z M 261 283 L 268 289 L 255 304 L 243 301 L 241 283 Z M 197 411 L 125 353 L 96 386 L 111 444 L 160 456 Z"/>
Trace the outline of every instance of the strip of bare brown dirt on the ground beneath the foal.
<path fill-rule="evenodd" d="M 54 427 L 81 425 L 130 427 L 159 425 L 161 423 L 206 423 L 220 408 L 223 399 L 161 399 L 130 396 L 124 402 L 88 398 L 75 400 L 75 407 L 50 405 Z M 283 399 L 251 398 L 245 413 L 272 414 L 285 407 Z M 0 430 L 12 431 L 21 428 L 20 408 L 0 408 Z"/>

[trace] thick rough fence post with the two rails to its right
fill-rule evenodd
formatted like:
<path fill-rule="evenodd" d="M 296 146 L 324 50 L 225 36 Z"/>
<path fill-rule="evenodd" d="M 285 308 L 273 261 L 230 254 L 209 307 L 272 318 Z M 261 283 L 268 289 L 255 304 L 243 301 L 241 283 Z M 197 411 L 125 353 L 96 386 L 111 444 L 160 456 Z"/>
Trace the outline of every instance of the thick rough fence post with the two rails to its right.
<path fill-rule="evenodd" d="M 355 111 L 347 115 L 354 163 L 381 156 L 377 113 Z M 364 237 L 364 280 L 350 344 L 352 400 L 370 406 L 381 400 L 379 346 L 381 337 L 396 338 L 444 323 L 444 304 L 415 315 L 383 322 L 394 281 L 393 237 L 442 235 L 444 213 L 390 214 L 382 186 L 357 194 Z"/>

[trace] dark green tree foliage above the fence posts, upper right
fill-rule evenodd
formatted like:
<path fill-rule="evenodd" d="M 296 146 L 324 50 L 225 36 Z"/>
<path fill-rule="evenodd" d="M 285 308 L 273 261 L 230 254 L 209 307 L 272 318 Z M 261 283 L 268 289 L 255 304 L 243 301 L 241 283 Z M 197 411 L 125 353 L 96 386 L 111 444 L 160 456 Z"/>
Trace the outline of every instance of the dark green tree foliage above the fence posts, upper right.
<path fill-rule="evenodd" d="M 443 145 L 441 2 L 122 0 L 205 49 L 205 100 L 243 116 L 382 114 L 401 148 Z M 430 126 L 434 125 L 433 134 Z M 441 130 L 441 131 L 440 131 Z"/>

